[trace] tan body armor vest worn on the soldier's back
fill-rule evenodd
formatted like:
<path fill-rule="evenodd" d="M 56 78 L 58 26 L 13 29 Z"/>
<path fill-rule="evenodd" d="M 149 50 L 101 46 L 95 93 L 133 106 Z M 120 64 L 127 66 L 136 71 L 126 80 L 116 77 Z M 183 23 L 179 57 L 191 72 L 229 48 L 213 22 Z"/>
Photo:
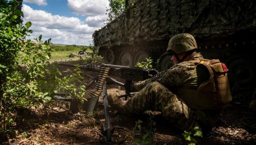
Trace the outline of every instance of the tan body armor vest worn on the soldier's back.
<path fill-rule="evenodd" d="M 225 64 L 218 59 L 189 60 L 189 62 L 206 67 L 210 74 L 209 79 L 202 82 L 197 89 L 181 86 L 176 94 L 191 108 L 220 110 L 226 107 L 232 97 Z"/>

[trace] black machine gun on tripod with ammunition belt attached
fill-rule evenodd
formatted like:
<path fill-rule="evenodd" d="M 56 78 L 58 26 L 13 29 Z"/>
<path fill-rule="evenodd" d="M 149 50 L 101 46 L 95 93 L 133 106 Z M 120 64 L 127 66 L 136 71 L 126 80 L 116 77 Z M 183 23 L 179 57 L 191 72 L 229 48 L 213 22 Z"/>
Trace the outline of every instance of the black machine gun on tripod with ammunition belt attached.
<path fill-rule="evenodd" d="M 111 144 L 111 134 L 113 133 L 115 128 L 120 127 L 110 127 L 110 117 L 108 112 L 108 101 L 107 101 L 107 85 L 108 84 L 117 84 L 120 86 L 128 86 L 132 83 L 132 81 L 140 81 L 145 80 L 147 78 L 151 78 L 155 74 L 158 73 L 155 69 L 145 69 L 139 67 L 132 66 L 122 66 L 122 65 L 113 65 L 113 64 L 100 64 L 100 65 L 92 65 L 92 64 L 70 64 L 70 63 L 57 63 L 59 65 L 79 67 L 80 69 L 85 69 L 88 71 L 99 72 L 97 77 L 94 77 L 92 81 L 87 84 L 87 88 L 89 88 L 93 82 L 97 82 L 96 86 L 89 90 L 88 93 L 84 96 L 86 99 L 88 98 L 96 98 L 98 100 L 99 95 L 102 92 L 102 98 L 104 101 L 104 115 L 105 121 L 102 125 L 102 136 L 100 136 L 100 140 L 105 144 Z M 119 82 L 110 76 L 118 76 L 125 80 L 125 83 Z M 119 97 L 132 96 L 134 92 L 131 92 L 130 89 L 125 87 L 125 94 L 120 95 Z M 94 108 L 94 106 L 93 106 Z"/>

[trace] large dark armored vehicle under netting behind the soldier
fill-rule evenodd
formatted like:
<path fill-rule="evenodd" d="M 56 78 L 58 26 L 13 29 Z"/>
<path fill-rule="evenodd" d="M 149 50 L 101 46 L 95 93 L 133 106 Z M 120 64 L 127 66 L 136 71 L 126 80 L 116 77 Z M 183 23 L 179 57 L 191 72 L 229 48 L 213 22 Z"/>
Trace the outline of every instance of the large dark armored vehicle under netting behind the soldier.
<path fill-rule="evenodd" d="M 255 0 L 126 0 L 124 13 L 92 37 L 106 63 L 134 66 L 151 57 L 159 70 L 171 36 L 192 34 L 205 58 L 225 62 L 231 85 L 255 84 Z"/>

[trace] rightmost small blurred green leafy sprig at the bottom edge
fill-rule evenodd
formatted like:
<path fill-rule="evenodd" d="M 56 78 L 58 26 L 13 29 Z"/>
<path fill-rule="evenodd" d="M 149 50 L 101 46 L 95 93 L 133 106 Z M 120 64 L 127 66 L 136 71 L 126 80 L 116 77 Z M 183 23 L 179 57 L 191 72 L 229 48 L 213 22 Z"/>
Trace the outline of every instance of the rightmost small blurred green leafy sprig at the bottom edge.
<path fill-rule="evenodd" d="M 202 131 L 198 126 L 195 126 L 193 128 L 193 132 L 184 130 L 182 135 L 186 140 L 189 141 L 189 145 L 195 145 L 195 143 L 197 143 L 195 137 L 202 137 Z"/>

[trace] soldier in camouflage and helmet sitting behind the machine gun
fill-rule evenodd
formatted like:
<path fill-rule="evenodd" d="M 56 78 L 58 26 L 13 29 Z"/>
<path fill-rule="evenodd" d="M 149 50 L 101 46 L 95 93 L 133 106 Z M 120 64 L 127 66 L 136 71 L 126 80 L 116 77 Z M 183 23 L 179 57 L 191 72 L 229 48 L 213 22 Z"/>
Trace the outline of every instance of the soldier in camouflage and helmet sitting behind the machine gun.
<path fill-rule="evenodd" d="M 225 65 L 218 59 L 204 59 L 196 49 L 191 34 L 174 35 L 166 51 L 173 53 L 175 64 L 153 78 L 126 85 L 126 89 L 138 91 L 126 103 L 116 94 L 109 94 L 110 106 L 123 113 L 160 111 L 180 129 L 200 126 L 209 131 L 231 94 Z"/>

